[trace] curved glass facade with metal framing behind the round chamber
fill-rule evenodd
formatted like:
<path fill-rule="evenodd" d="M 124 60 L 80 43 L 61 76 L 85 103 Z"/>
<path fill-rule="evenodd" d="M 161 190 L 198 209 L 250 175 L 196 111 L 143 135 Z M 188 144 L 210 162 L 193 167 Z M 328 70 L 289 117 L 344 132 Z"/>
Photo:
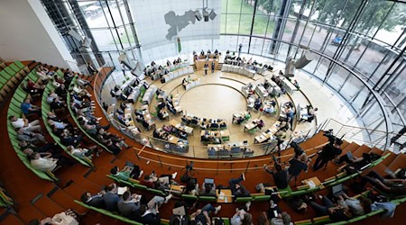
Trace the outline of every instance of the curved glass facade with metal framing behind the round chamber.
<path fill-rule="evenodd" d="M 113 61 L 120 52 L 147 64 L 178 56 L 175 45 L 139 48 L 137 0 L 42 0 L 72 55 Z M 79 9 L 79 10 L 78 10 Z M 398 131 L 406 117 L 406 4 L 385 0 L 222 0 L 220 39 L 182 42 L 193 50 L 230 49 L 274 58 L 317 58 L 302 71 L 331 86 L 372 130 Z M 92 36 L 86 52 L 66 32 Z M 87 55 L 89 57 L 86 57 Z M 80 64 L 80 62 L 78 61 Z M 100 61 L 99 61 L 100 64 Z"/>

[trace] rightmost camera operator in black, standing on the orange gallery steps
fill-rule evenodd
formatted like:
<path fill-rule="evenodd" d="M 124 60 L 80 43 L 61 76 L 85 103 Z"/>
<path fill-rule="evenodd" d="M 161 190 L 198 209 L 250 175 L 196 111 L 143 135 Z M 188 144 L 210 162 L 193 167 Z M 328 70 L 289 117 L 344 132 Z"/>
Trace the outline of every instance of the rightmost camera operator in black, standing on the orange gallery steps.
<path fill-rule="evenodd" d="M 316 171 L 319 168 L 328 165 L 329 160 L 333 160 L 337 156 L 341 155 L 343 150 L 340 148 L 340 145 L 343 143 L 343 140 L 337 139 L 333 134 L 333 130 L 328 130 L 324 136 L 328 137 L 328 145 L 323 148 L 321 153 L 318 154 L 318 158 L 314 162 L 313 170 Z"/>

